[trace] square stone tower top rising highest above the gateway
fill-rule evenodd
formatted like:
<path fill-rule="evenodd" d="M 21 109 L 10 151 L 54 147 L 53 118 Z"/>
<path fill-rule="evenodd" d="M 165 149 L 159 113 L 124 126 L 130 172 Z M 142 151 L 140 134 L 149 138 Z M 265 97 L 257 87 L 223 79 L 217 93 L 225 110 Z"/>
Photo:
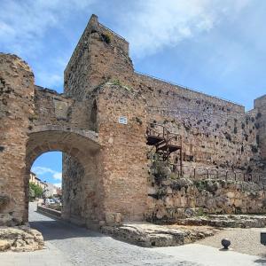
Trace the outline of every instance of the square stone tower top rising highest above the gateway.
<path fill-rule="evenodd" d="M 65 69 L 65 93 L 82 99 L 99 84 L 133 74 L 129 43 L 92 15 Z"/>

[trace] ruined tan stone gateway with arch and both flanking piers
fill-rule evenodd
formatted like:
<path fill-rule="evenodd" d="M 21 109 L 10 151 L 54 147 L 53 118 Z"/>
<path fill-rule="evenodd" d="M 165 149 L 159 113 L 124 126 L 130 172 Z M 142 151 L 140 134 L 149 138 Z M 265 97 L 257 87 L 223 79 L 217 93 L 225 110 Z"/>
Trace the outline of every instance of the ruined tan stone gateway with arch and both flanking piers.
<path fill-rule="evenodd" d="M 35 86 L 30 68 L 14 55 L 0 55 L 0 71 L 0 223 L 27 222 L 29 171 L 49 151 L 64 153 L 63 218 L 88 227 L 143 219 L 143 99 L 108 82 L 82 98 L 58 94 Z M 75 197 L 72 186 L 79 188 Z"/>

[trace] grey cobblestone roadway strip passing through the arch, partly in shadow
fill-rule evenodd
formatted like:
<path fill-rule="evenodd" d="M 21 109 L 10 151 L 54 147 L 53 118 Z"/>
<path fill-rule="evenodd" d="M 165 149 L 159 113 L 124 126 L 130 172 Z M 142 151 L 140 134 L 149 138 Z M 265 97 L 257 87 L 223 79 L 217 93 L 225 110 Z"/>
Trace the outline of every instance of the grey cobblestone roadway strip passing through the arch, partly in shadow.
<path fill-rule="evenodd" d="M 43 233 L 46 243 L 56 246 L 73 265 L 202 265 L 176 260 L 170 254 L 156 253 L 149 248 L 132 246 L 98 232 L 55 221 L 32 208 L 29 217 L 31 226 Z"/>

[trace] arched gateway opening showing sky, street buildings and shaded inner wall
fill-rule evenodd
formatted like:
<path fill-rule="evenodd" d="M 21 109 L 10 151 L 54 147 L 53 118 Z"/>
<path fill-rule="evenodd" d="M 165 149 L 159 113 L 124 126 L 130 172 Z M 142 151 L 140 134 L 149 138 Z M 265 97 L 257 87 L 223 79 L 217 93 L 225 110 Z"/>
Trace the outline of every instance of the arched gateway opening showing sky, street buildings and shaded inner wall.
<path fill-rule="evenodd" d="M 67 153 L 53 151 L 38 156 L 29 173 L 29 221 L 39 206 L 47 214 L 50 212 L 74 223 L 84 223 L 85 177 L 82 164 Z"/>

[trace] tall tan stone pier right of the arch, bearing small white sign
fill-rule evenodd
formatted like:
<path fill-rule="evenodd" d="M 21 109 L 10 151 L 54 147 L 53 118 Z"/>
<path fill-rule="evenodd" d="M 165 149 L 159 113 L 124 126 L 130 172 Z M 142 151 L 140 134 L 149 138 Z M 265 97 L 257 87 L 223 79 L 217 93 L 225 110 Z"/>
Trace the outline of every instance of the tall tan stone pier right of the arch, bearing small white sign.
<path fill-rule="evenodd" d="M 97 90 L 98 134 L 103 147 L 100 176 L 106 222 L 144 219 L 147 189 L 145 99 L 137 91 L 113 83 Z M 115 103 L 115 106 L 113 106 Z M 121 117 L 126 124 L 119 122 Z"/>

